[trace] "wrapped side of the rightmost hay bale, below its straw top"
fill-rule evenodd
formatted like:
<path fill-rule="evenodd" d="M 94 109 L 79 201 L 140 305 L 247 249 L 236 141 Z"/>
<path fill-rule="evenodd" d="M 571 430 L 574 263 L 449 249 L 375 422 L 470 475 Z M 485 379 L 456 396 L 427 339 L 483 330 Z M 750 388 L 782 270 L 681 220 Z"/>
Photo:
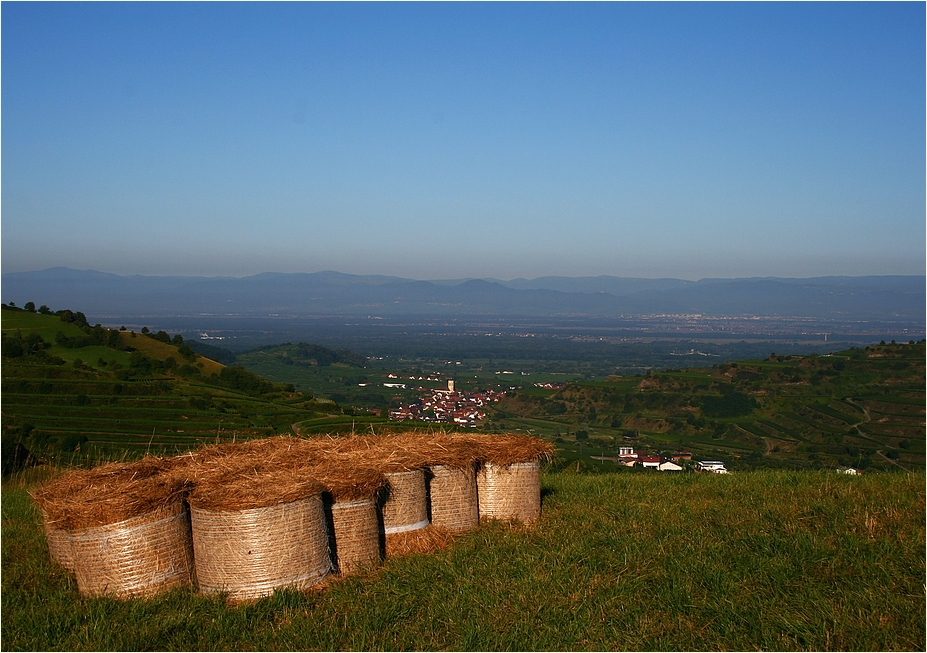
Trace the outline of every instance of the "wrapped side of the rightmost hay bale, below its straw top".
<path fill-rule="evenodd" d="M 541 516 L 541 474 L 535 462 L 484 463 L 477 474 L 480 516 L 532 524 Z"/>

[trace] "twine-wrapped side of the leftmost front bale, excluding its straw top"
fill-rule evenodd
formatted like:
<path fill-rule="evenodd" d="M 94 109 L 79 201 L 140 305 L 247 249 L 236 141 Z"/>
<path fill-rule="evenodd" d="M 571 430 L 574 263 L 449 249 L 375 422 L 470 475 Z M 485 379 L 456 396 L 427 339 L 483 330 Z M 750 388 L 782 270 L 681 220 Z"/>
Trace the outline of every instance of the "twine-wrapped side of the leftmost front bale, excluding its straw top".
<path fill-rule="evenodd" d="M 70 531 L 68 541 L 84 596 L 146 597 L 190 583 L 190 519 L 180 497 L 138 517 Z"/>

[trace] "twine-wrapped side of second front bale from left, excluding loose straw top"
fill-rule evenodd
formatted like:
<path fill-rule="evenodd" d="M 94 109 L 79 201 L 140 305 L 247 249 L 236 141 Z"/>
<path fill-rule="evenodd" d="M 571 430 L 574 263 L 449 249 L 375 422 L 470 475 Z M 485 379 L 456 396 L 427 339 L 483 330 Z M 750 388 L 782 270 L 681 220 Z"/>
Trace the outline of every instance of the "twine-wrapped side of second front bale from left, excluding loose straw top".
<path fill-rule="evenodd" d="M 331 571 L 322 498 L 235 511 L 190 509 L 200 591 L 232 601 L 307 589 Z"/>

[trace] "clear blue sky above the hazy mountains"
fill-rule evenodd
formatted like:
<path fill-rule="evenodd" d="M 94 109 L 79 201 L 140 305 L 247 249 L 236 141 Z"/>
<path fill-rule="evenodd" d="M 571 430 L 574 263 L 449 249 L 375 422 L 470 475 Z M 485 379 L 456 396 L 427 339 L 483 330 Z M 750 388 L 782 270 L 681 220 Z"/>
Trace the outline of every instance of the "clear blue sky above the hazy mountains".
<path fill-rule="evenodd" d="M 923 3 L 2 4 L 2 269 L 923 274 Z"/>

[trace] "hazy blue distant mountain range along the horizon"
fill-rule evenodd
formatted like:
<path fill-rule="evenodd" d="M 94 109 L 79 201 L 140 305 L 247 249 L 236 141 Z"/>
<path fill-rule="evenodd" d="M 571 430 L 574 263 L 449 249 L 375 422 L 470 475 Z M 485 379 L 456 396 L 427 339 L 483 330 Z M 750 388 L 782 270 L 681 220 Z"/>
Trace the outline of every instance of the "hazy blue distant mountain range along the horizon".
<path fill-rule="evenodd" d="M 50 268 L 2 275 L 3 302 L 88 315 L 801 316 L 914 320 L 924 276 L 785 279 L 540 277 L 417 281 L 340 272 L 250 277 L 120 276 Z"/>

